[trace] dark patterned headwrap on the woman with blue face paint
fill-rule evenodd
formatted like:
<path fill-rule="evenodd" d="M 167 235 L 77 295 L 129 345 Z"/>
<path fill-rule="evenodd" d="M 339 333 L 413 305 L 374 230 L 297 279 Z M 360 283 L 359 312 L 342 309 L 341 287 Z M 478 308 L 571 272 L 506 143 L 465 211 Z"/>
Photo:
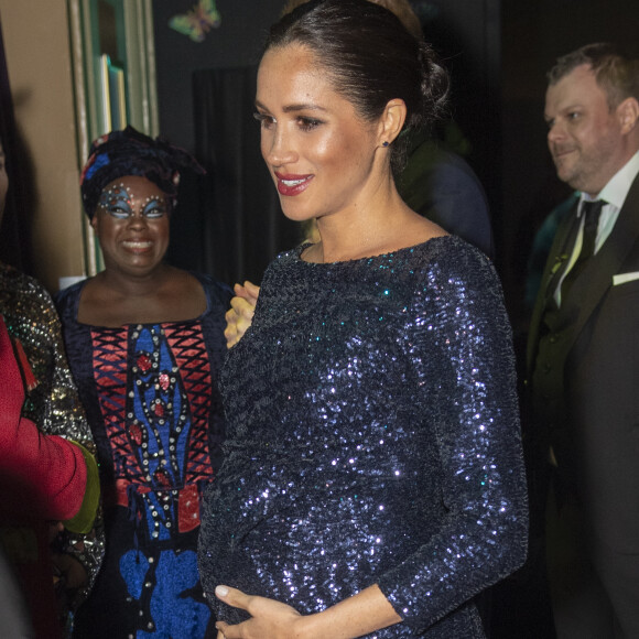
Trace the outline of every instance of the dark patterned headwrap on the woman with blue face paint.
<path fill-rule="evenodd" d="M 118 177 L 145 177 L 161 188 L 175 206 L 180 171 L 191 169 L 204 173 L 197 161 L 183 149 L 172 147 L 162 138 L 153 140 L 127 127 L 98 138 L 89 150 L 89 159 L 80 175 L 83 204 L 94 217 L 102 188 Z"/>

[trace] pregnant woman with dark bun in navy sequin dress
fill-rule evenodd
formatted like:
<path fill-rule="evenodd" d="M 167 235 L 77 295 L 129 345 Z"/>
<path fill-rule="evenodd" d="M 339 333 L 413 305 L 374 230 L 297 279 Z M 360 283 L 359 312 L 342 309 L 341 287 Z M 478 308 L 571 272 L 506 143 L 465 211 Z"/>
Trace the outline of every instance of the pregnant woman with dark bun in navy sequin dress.
<path fill-rule="evenodd" d="M 527 545 L 511 334 L 489 260 L 412 212 L 391 165 L 447 76 L 386 9 L 271 30 L 261 150 L 321 240 L 267 270 L 221 372 L 199 567 L 218 638 L 483 637 Z"/>

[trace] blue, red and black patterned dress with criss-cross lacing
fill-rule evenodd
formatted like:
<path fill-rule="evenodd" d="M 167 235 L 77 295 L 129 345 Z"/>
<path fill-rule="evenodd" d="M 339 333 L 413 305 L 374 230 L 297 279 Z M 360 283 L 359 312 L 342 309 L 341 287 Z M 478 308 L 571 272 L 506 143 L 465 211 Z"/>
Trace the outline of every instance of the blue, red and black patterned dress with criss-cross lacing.
<path fill-rule="evenodd" d="M 196 320 L 117 328 L 77 322 L 84 283 L 57 300 L 98 447 L 107 551 L 77 637 L 201 638 L 213 621 L 196 562 L 199 507 L 224 436 L 217 389 L 231 291 L 195 274 Z"/>

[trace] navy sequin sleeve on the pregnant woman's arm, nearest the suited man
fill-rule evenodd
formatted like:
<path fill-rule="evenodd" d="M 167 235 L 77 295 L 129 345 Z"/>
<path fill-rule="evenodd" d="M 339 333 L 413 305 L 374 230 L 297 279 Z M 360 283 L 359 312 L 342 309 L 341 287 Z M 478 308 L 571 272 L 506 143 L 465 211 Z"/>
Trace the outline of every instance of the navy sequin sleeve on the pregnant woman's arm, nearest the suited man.
<path fill-rule="evenodd" d="M 526 556 L 510 326 L 494 270 L 473 254 L 463 257 L 452 269 L 432 270 L 411 308 L 413 398 L 434 425 L 437 445 L 435 467 L 424 473 L 438 477 L 447 515 L 427 543 L 379 585 L 418 632 L 511 573 Z M 427 382 L 432 366 L 426 361 L 433 357 L 441 364 L 435 386 Z"/>

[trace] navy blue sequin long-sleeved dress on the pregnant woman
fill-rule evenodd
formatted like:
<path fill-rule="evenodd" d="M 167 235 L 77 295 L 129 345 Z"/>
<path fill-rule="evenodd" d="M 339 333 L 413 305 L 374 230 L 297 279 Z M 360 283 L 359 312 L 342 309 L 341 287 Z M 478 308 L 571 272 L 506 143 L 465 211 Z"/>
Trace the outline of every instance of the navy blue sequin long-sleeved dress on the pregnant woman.
<path fill-rule="evenodd" d="M 268 269 L 227 357 L 225 461 L 201 575 L 320 611 L 378 584 L 403 621 L 369 637 L 483 637 L 473 597 L 523 562 L 511 332 L 488 260 L 453 236 Z"/>

